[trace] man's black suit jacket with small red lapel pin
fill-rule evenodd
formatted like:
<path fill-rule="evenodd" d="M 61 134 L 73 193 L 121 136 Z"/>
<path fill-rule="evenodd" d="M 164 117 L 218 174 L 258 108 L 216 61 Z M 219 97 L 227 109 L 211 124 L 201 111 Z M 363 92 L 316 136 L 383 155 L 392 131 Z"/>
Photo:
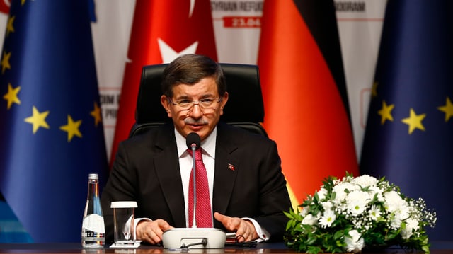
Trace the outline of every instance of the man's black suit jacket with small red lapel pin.
<path fill-rule="evenodd" d="M 229 164 L 234 168 L 229 167 Z M 173 124 L 120 143 L 101 204 L 107 241 L 113 241 L 111 201 L 137 201 L 136 218 L 185 227 L 185 206 Z M 291 207 L 275 142 L 222 122 L 217 125 L 212 209 L 256 219 L 281 240 Z M 224 229 L 214 219 L 214 227 Z"/>

